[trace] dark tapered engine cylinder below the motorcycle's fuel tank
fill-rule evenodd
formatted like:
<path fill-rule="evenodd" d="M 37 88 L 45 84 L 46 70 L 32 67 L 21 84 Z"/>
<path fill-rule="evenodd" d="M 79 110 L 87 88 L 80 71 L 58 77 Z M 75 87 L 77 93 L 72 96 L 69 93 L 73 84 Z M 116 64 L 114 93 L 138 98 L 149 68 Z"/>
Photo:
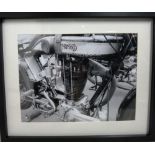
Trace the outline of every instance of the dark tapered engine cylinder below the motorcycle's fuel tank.
<path fill-rule="evenodd" d="M 89 61 L 87 58 L 65 56 L 63 66 L 66 98 L 77 101 L 81 98 L 87 81 Z"/>

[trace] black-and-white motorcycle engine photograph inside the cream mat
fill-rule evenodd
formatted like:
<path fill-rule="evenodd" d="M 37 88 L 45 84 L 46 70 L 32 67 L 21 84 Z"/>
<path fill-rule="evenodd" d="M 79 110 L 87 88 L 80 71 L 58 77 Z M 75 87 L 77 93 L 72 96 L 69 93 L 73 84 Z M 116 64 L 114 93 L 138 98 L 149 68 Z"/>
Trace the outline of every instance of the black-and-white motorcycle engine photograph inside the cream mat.
<path fill-rule="evenodd" d="M 133 121 L 137 33 L 18 34 L 22 122 Z"/>

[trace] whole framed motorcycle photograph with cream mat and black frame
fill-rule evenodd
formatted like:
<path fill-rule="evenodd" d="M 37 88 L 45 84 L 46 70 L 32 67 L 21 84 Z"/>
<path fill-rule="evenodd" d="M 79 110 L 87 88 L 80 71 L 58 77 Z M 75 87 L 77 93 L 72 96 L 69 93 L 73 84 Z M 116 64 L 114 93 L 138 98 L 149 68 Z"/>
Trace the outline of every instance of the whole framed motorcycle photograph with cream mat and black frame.
<path fill-rule="evenodd" d="M 2 141 L 155 141 L 154 13 L 1 13 Z"/>

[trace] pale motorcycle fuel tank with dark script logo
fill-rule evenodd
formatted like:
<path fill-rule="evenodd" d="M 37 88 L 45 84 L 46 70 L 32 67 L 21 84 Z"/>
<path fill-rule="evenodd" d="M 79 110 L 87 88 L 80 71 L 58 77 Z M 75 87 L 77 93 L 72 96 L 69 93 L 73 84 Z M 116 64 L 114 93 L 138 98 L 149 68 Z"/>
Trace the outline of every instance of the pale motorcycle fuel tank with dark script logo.
<path fill-rule="evenodd" d="M 116 36 L 63 36 L 61 38 L 61 54 L 75 56 L 109 56 L 118 53 L 122 37 Z"/>

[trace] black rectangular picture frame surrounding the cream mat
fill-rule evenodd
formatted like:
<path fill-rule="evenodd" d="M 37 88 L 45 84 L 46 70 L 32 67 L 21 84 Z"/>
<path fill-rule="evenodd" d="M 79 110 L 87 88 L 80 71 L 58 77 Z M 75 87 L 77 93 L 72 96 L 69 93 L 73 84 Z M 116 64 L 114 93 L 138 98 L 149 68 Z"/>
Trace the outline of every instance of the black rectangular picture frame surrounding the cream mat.
<path fill-rule="evenodd" d="M 155 42 L 155 13 L 128 13 L 128 12 L 113 12 L 113 13 L 96 13 L 96 12 L 81 12 L 81 13 L 0 13 L 0 130 L 1 140 L 5 142 L 13 141 L 155 141 L 155 44 L 152 43 L 152 73 L 151 73 L 151 97 L 150 97 L 150 120 L 149 132 L 147 135 L 126 135 L 126 136 L 8 136 L 7 132 L 7 115 L 5 102 L 5 84 L 4 84 L 4 62 L 3 62 L 3 36 L 2 23 L 4 19 L 37 19 L 37 18 L 147 18 L 153 21 L 153 40 Z"/>

